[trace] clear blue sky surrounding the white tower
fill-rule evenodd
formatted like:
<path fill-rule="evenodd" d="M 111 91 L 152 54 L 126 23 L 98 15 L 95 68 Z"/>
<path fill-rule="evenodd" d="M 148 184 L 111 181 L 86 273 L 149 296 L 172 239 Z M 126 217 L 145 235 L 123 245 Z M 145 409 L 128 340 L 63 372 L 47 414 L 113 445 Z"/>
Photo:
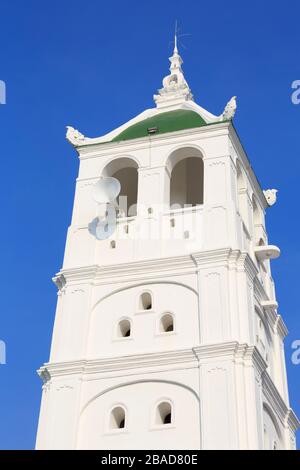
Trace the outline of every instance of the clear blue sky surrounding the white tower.
<path fill-rule="evenodd" d="M 289 2 L 1 0 L 0 448 L 33 448 L 48 359 L 56 288 L 70 223 L 76 153 L 65 126 L 90 137 L 153 105 L 168 70 L 175 19 L 184 32 L 184 71 L 196 101 L 219 114 L 238 96 L 235 126 L 264 188 L 280 312 L 290 330 L 286 357 L 291 403 L 300 415 L 299 176 L 300 4 Z"/>

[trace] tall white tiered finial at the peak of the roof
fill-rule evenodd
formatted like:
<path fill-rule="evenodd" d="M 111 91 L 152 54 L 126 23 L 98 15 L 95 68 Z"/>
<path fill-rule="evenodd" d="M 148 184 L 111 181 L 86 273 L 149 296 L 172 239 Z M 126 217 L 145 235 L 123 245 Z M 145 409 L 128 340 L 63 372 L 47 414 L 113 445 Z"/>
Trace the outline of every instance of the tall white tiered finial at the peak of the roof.
<path fill-rule="evenodd" d="M 177 21 L 175 23 L 174 51 L 171 62 L 170 74 L 163 79 L 163 88 L 158 90 L 158 95 L 154 95 L 154 101 L 158 108 L 178 105 L 184 101 L 193 99 L 190 87 L 188 86 L 181 68 L 182 58 L 177 49 Z"/>

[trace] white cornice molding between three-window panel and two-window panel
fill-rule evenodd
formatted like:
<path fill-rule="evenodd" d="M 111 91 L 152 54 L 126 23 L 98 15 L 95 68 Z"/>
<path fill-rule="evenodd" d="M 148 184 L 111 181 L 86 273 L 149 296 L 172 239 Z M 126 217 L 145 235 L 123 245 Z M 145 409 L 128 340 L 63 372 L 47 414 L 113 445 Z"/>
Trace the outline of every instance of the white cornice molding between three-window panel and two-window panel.
<path fill-rule="evenodd" d="M 269 406 L 279 417 L 283 425 L 289 426 L 290 429 L 296 431 L 300 427 L 300 422 L 295 413 L 289 408 L 276 386 L 271 380 L 267 372 L 267 364 L 260 352 L 255 346 L 248 344 L 240 344 L 238 342 L 227 342 L 217 344 L 205 344 L 194 347 L 192 349 L 183 349 L 175 351 L 167 351 L 160 353 L 139 354 L 123 357 L 112 357 L 103 359 L 91 359 L 80 361 L 66 361 L 57 363 L 47 363 L 37 372 L 44 384 L 48 384 L 55 377 L 68 377 L 71 375 L 78 376 L 82 380 L 83 376 L 101 375 L 107 373 L 120 372 L 122 376 L 128 375 L 128 371 L 132 370 L 136 375 L 138 370 L 142 370 L 143 374 L 156 372 L 160 370 L 169 370 L 170 365 L 186 370 L 187 368 L 198 368 L 203 364 L 213 361 L 232 361 L 234 363 L 242 363 L 244 366 L 254 367 L 255 377 L 262 386 L 263 394 Z M 166 367 L 168 369 L 166 369 Z M 221 368 L 222 366 L 212 366 L 212 369 Z M 141 372 L 140 372 L 141 373 Z M 56 390 L 67 390 L 69 386 L 62 385 Z"/>

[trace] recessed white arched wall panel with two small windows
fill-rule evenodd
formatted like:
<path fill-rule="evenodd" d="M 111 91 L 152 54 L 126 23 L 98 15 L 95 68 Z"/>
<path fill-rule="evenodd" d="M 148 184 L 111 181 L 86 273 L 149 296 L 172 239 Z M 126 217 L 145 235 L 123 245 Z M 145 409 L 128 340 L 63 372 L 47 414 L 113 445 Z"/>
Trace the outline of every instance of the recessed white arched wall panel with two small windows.
<path fill-rule="evenodd" d="M 156 406 L 170 401 L 171 424 L 157 425 Z M 110 429 L 110 410 L 126 410 L 126 427 Z M 166 382 L 123 385 L 95 398 L 83 411 L 77 448 L 80 449 L 199 449 L 199 400 L 191 390 Z"/>

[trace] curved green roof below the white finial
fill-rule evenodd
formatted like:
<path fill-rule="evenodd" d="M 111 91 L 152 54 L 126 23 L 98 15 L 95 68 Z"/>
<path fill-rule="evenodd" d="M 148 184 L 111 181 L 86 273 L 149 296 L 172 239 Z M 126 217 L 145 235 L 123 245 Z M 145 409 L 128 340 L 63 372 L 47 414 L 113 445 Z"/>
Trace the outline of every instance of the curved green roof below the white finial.
<path fill-rule="evenodd" d="M 176 111 L 157 114 L 156 116 L 137 122 L 120 132 L 120 134 L 114 137 L 111 142 L 147 137 L 149 135 L 148 129 L 151 127 L 158 128 L 158 131 L 155 133 L 155 135 L 157 135 L 164 134 L 166 132 L 181 131 L 183 129 L 203 127 L 206 125 L 207 123 L 204 119 L 199 116 L 199 114 L 195 113 L 195 111 L 178 109 Z"/>

